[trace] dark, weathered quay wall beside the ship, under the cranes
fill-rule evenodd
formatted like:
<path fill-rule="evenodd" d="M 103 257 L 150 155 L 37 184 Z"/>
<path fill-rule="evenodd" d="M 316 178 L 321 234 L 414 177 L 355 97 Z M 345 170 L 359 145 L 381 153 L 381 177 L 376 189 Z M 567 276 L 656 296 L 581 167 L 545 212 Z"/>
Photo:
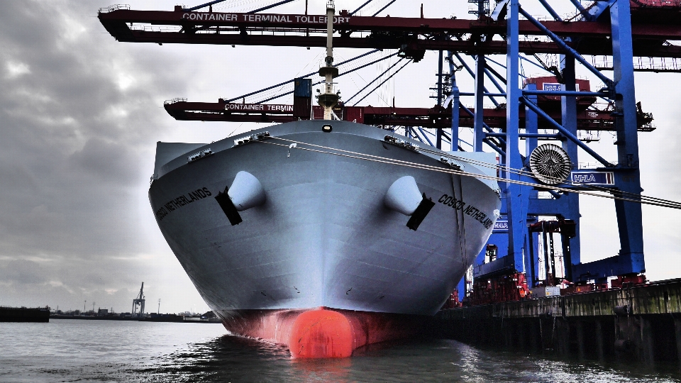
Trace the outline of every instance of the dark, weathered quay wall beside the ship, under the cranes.
<path fill-rule="evenodd" d="M 580 359 L 681 365 L 681 279 L 440 311 L 440 335 Z"/>

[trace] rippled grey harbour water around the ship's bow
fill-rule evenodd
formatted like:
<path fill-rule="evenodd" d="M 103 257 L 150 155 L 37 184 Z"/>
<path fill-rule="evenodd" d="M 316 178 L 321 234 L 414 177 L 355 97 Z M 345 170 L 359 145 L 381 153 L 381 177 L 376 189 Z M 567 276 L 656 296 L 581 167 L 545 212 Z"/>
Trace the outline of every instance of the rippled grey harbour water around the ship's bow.
<path fill-rule="evenodd" d="M 681 382 L 681 374 L 438 339 L 292 360 L 219 324 L 57 319 L 0 323 L 0 382 Z"/>

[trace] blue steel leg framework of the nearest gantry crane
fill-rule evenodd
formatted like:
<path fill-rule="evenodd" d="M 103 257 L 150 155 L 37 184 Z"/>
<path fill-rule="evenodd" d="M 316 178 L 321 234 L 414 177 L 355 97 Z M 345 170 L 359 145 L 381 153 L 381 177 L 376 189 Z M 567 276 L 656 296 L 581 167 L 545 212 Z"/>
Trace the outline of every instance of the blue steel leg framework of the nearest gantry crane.
<path fill-rule="evenodd" d="M 478 1 L 480 10 L 484 1 Z M 553 16 L 555 21 L 562 21 L 560 16 L 550 7 L 546 1 L 541 1 L 546 10 Z M 501 148 L 502 162 L 501 169 L 506 168 L 517 170 L 527 168 L 531 164 L 531 153 L 538 148 L 538 141 L 547 139 L 546 135 L 538 134 L 538 119 L 550 123 L 555 131 L 560 135 L 561 146 L 569 156 L 572 166 L 568 181 L 585 181 L 594 179 L 594 183 L 607 184 L 609 189 L 617 194 L 618 191 L 631 193 L 636 196 L 641 193 L 641 182 L 639 174 L 638 156 L 638 131 L 636 123 L 636 99 L 633 82 L 633 41 L 631 33 L 631 10 L 629 1 L 601 1 L 594 3 L 589 9 L 585 9 L 578 1 L 573 1 L 580 13 L 580 19 L 584 21 L 601 21 L 609 23 L 611 30 L 611 55 L 613 62 L 614 78 L 609 78 L 597 70 L 591 63 L 585 60 L 577 50 L 572 48 L 570 43 L 578 38 L 560 38 L 551 32 L 543 23 L 537 21 L 533 16 L 521 8 L 519 1 L 506 0 L 500 1 L 492 11 L 491 18 L 494 21 L 501 21 L 506 18 L 506 130 L 501 135 L 490 135 L 484 129 L 482 116 L 476 116 L 473 148 L 476 151 L 482 150 L 482 143 L 485 139 L 492 137 L 503 138 L 505 147 Z M 484 13 L 481 13 L 484 15 Z M 548 36 L 560 47 L 560 88 L 556 89 L 536 89 L 536 84 L 526 82 L 521 87 L 519 79 L 519 18 L 523 16 L 536 26 L 543 35 Z M 579 22 L 579 21 L 577 21 Z M 450 52 L 450 57 L 457 55 Z M 459 57 L 460 58 L 460 57 Z M 451 62 L 451 61 L 450 61 Z M 605 160 L 597 152 L 594 152 L 588 145 L 577 137 L 577 96 L 586 96 L 587 92 L 577 91 L 575 88 L 575 65 L 578 63 L 604 84 L 604 89 L 597 92 L 590 92 L 591 95 L 607 99 L 614 105 L 613 114 L 616 116 L 615 131 L 617 135 L 616 145 L 618 151 L 618 162 L 612 164 Z M 484 55 L 475 57 L 475 111 L 482 108 L 482 99 L 489 95 L 485 89 L 485 76 L 489 79 L 493 77 L 489 74 L 489 67 L 486 64 Z M 494 82 L 499 89 L 499 84 Z M 501 90 L 501 89 L 499 89 Z M 560 123 L 548 116 L 548 113 L 538 106 L 538 96 L 560 96 L 560 106 L 562 118 Z M 525 148 L 519 148 L 519 112 L 525 109 Z M 455 121 L 455 120 L 453 120 Z M 458 126 L 453 125 L 452 131 L 458 131 Z M 453 137 L 454 138 L 454 137 Z M 454 138 L 455 139 L 455 138 Z M 580 150 L 581 149 L 581 150 Z M 580 172 L 577 169 L 580 152 L 586 152 L 600 163 L 595 170 Z M 501 152 L 501 151 L 500 151 Z M 503 172 L 504 177 L 509 180 L 525 180 L 533 182 L 531 177 L 527 177 L 516 172 Z M 580 177 L 582 176 L 582 177 Z M 588 176 L 588 178 L 586 177 Z M 602 177 L 607 176 L 608 182 L 602 182 Z M 536 181 L 534 181 L 536 182 Z M 589 182 L 587 180 L 587 182 Z M 536 182 L 540 186 L 541 182 Z M 545 187 L 547 185 L 544 185 Z M 572 185 L 568 188 L 576 188 Z M 478 264 L 476 274 L 480 277 L 494 274 L 495 272 L 511 272 L 519 270 L 526 272 L 528 280 L 536 282 L 539 270 L 537 269 L 536 248 L 537 233 L 528 231 L 528 223 L 535 223 L 538 216 L 555 216 L 560 221 L 567 220 L 574 223 L 568 231 L 567 238 L 563 236 L 563 252 L 565 254 L 565 277 L 573 281 L 594 280 L 605 282 L 605 279 L 612 275 L 638 274 L 645 272 L 645 262 L 643 257 L 643 227 L 641 224 L 641 204 L 636 201 L 615 201 L 617 226 L 619 228 L 619 239 L 621 250 L 618 255 L 607 257 L 596 262 L 582 263 L 580 260 L 580 201 L 576 193 L 551 193 L 553 198 L 538 199 L 537 188 L 523 186 L 514 183 L 507 183 L 502 188 L 502 225 L 496 233 L 492 235 L 490 242 L 495 243 L 497 248 L 507 248 L 506 254 L 500 254 L 496 260 L 484 265 Z M 546 189 L 546 188 L 541 188 Z M 634 197 L 634 199 L 636 199 Z M 505 218 L 505 219 L 504 219 Z M 570 239 L 570 236 L 574 237 Z M 546 244 L 545 244 L 546 245 Z M 503 251 L 503 250 L 502 250 Z M 480 255 L 480 258 L 484 254 Z M 545 265 L 546 267 L 547 265 Z M 550 270 L 550 269 L 549 269 Z"/>

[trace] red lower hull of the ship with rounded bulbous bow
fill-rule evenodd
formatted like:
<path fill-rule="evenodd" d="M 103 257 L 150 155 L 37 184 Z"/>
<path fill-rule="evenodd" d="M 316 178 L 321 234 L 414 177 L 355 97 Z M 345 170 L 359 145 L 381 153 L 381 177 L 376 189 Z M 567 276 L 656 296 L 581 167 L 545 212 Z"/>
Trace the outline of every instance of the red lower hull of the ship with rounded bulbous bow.
<path fill-rule="evenodd" d="M 319 309 L 242 310 L 225 328 L 238 335 L 287 345 L 294 358 L 349 357 L 365 345 L 418 334 L 425 317 Z"/>

